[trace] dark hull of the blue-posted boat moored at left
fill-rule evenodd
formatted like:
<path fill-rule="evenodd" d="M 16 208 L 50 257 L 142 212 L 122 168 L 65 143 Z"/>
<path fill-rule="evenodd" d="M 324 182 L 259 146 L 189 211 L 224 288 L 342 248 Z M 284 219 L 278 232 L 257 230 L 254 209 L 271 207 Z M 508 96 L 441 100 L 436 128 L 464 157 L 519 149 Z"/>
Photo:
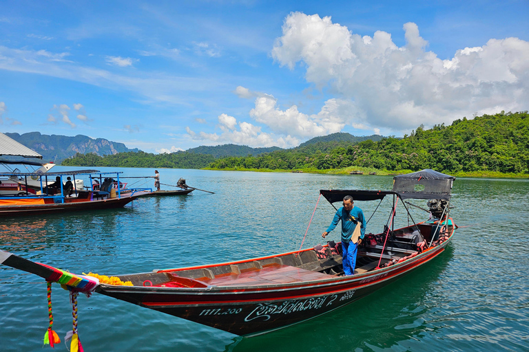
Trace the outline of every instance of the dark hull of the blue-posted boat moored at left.
<path fill-rule="evenodd" d="M 65 203 L 0 206 L 0 217 L 24 217 L 34 214 L 60 214 L 70 211 L 123 208 L 127 203 L 140 197 L 141 193 L 143 192 L 136 192 L 134 195 L 121 195 L 121 198 L 102 200 L 81 201 L 75 198 L 66 198 Z"/>

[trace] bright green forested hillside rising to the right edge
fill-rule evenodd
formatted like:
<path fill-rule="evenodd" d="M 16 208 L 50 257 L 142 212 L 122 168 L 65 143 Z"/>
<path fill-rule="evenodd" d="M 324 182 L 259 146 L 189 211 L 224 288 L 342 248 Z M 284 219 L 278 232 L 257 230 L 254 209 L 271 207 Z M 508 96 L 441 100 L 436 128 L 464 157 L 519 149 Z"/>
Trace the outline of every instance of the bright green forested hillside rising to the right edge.
<path fill-rule="evenodd" d="M 298 169 L 371 167 L 385 170 L 529 172 L 529 114 L 498 113 L 455 120 L 433 129 L 419 126 L 403 138 L 366 140 L 331 151 L 296 148 L 261 157 L 227 157 L 210 168 Z"/>

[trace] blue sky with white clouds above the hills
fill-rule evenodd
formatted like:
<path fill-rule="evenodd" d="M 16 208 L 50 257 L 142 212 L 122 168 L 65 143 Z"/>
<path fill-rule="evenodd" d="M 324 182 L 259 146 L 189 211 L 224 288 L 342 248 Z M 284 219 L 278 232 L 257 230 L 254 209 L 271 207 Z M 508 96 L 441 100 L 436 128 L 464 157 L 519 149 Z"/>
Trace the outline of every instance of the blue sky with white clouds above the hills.
<path fill-rule="evenodd" d="M 164 153 L 529 107 L 528 1 L 1 1 L 0 131 Z"/>

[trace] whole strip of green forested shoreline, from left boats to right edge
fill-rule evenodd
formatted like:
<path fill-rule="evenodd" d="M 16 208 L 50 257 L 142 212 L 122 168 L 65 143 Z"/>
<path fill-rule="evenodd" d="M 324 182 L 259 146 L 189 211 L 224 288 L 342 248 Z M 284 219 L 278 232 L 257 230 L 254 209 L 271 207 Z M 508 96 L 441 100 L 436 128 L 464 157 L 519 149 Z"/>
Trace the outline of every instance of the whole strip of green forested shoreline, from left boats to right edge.
<path fill-rule="evenodd" d="M 529 177 L 528 111 L 501 111 L 495 115 L 475 116 L 472 120 L 463 118 L 450 126 L 439 124 L 431 129 L 421 125 L 402 138 L 378 136 L 378 140 L 351 142 L 343 140 L 344 135 L 346 133 L 316 137 L 296 148 L 259 155 L 215 157 L 192 151 L 155 155 L 140 151 L 103 157 L 77 154 L 62 164 L 334 175 L 353 171 L 364 175 L 397 175 L 432 168 L 456 177 Z M 231 152 L 238 147 L 229 145 Z M 214 148 L 211 147 L 211 151 Z"/>

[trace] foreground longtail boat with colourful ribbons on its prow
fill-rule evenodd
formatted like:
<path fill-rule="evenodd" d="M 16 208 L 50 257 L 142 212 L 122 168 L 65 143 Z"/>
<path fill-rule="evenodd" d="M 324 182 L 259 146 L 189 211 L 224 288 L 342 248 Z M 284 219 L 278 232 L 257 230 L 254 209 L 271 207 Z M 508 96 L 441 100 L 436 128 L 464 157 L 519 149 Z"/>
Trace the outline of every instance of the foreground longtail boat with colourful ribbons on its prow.
<path fill-rule="evenodd" d="M 93 289 L 239 336 L 281 329 L 348 305 L 441 254 L 457 228 L 450 218 L 454 179 L 422 170 L 395 176 L 391 191 L 320 190 L 331 204 L 342 201 L 345 195 L 355 201 L 380 203 L 393 197 L 384 231 L 366 234 L 352 276 L 343 275 L 340 243 L 329 241 L 314 248 L 242 261 L 118 275 L 112 284 L 101 281 Z M 397 206 L 404 206 L 411 217 L 406 199 L 428 199 L 431 218 L 395 229 Z M 53 267 L 7 252 L 0 252 L 0 263 L 48 281 L 61 276 Z M 74 279 L 62 278 L 63 283 Z M 128 283 L 121 285 L 123 282 Z M 76 287 L 69 289 L 75 291 Z"/>

